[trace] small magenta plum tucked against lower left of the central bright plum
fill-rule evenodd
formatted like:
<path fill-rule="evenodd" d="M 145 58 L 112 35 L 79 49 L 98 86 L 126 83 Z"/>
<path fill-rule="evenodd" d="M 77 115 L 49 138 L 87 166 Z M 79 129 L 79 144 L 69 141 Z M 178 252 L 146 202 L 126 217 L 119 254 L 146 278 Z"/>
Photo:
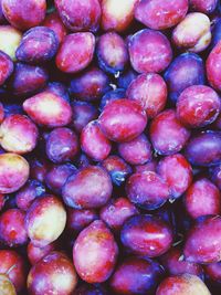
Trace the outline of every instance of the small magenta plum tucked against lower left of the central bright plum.
<path fill-rule="evenodd" d="M 108 157 L 112 144 L 102 133 L 96 120 L 90 122 L 82 130 L 81 148 L 95 161 L 102 161 Z"/>

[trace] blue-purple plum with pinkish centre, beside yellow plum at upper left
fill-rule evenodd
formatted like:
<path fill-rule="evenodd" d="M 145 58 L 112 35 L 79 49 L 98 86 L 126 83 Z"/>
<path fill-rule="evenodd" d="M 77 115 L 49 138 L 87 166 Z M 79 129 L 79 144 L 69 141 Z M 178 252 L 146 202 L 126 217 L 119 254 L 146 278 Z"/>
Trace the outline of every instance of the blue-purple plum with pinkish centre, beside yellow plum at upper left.
<path fill-rule="evenodd" d="M 15 56 L 20 62 L 42 64 L 52 60 L 57 49 L 54 31 L 46 27 L 35 27 L 22 35 Z"/>

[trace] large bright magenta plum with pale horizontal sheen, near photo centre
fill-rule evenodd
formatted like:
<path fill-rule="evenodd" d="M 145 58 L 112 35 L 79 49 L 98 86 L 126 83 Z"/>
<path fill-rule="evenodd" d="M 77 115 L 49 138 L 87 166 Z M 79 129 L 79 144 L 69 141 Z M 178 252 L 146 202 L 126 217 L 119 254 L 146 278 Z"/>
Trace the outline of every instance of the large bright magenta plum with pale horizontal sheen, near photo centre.
<path fill-rule="evenodd" d="M 147 124 L 147 116 L 137 102 L 122 98 L 109 102 L 105 106 L 98 123 L 107 138 L 125 143 L 143 133 Z"/>

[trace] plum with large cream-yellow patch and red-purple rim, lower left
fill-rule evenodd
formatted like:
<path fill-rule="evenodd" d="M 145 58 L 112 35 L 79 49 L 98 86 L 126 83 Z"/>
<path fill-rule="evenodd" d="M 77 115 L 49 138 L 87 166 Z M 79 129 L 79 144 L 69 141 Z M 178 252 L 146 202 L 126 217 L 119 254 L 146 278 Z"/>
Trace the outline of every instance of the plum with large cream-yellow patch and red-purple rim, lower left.
<path fill-rule="evenodd" d="M 63 203 L 52 194 L 36 199 L 25 215 L 28 235 L 35 246 L 54 242 L 63 232 L 65 223 Z"/>

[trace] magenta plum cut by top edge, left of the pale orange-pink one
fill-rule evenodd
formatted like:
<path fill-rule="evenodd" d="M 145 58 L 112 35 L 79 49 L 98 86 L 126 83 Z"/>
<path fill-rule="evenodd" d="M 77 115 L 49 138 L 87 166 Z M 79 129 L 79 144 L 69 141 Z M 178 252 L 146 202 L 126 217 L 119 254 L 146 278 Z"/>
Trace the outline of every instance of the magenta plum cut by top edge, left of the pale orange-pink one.
<path fill-rule="evenodd" d="M 98 0 L 55 0 L 56 10 L 65 24 L 73 31 L 96 32 L 99 27 L 101 4 Z"/>

